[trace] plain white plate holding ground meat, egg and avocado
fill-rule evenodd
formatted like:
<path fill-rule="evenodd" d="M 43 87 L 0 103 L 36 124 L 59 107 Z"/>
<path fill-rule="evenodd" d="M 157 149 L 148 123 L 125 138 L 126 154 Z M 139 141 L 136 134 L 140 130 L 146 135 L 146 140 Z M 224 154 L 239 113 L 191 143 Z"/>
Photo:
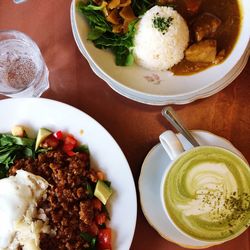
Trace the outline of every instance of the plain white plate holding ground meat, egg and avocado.
<path fill-rule="evenodd" d="M 136 191 L 128 162 L 112 136 L 84 112 L 48 99 L 1 100 L 0 117 L 1 133 L 9 132 L 13 126 L 20 124 L 31 128 L 27 132 L 34 136 L 35 131 L 46 127 L 53 131 L 68 131 L 81 143 L 88 145 L 91 164 L 107 174 L 114 190 L 109 209 L 113 248 L 128 250 L 136 224 Z"/>

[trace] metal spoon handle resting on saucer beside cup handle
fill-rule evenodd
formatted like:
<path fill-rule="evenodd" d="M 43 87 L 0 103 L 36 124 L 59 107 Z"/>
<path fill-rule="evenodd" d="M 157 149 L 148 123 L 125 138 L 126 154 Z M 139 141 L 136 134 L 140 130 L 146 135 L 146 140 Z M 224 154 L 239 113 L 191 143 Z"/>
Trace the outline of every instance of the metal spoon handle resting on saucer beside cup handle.
<path fill-rule="evenodd" d="M 182 125 L 172 107 L 167 106 L 163 108 L 161 113 L 194 147 L 200 146 L 192 134 Z"/>

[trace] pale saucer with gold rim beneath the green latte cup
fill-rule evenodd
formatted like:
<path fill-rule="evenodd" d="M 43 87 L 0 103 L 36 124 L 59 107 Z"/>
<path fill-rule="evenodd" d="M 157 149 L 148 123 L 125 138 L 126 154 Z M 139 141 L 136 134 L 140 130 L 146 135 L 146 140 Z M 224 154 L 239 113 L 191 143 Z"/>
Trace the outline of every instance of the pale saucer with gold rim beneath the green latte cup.
<path fill-rule="evenodd" d="M 200 145 L 220 146 L 244 156 L 225 138 L 207 131 L 194 130 L 193 136 Z M 183 143 L 184 149 L 191 148 L 191 144 L 181 135 L 177 134 Z M 177 231 L 167 219 L 162 206 L 160 206 L 160 183 L 162 175 L 170 159 L 161 144 L 154 146 L 147 154 L 141 168 L 139 177 L 139 194 L 142 211 L 148 223 L 165 239 L 188 248 L 206 248 L 211 245 L 199 240 L 191 240 Z"/>

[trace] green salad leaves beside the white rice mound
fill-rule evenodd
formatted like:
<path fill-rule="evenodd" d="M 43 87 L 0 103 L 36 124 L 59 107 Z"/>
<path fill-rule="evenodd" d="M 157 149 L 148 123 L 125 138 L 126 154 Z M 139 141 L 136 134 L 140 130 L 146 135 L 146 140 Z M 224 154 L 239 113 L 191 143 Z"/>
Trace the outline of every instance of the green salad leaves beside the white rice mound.
<path fill-rule="evenodd" d="M 138 20 L 129 24 L 127 33 L 115 34 L 112 32 L 111 24 L 102 13 L 102 6 L 95 6 L 92 0 L 89 0 L 87 4 L 79 2 L 76 7 L 89 24 L 88 40 L 91 40 L 99 49 L 110 49 L 115 55 L 116 65 L 128 66 L 133 64 L 133 40 L 136 31 L 135 25 Z"/>

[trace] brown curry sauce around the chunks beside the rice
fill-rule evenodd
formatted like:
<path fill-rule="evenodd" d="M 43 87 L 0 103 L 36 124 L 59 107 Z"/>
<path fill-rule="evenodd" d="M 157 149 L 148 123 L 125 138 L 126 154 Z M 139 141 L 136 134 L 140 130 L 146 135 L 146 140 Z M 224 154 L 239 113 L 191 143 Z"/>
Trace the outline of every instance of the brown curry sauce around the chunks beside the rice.
<path fill-rule="evenodd" d="M 225 60 L 225 58 L 231 53 L 240 31 L 241 13 L 238 1 L 174 0 L 172 2 L 175 5 L 175 9 L 183 16 L 188 24 L 190 32 L 189 47 L 197 43 L 194 24 L 201 15 L 206 13 L 208 13 L 208 15 L 213 15 L 220 20 L 220 25 L 211 36 L 204 38 L 204 40 L 213 39 L 216 41 L 216 60 L 213 62 L 192 62 L 188 61 L 187 58 L 184 58 L 180 63 L 172 67 L 171 71 L 175 75 L 188 75 L 223 62 L 223 60 Z M 200 18 L 200 20 L 202 22 L 202 18 Z"/>

